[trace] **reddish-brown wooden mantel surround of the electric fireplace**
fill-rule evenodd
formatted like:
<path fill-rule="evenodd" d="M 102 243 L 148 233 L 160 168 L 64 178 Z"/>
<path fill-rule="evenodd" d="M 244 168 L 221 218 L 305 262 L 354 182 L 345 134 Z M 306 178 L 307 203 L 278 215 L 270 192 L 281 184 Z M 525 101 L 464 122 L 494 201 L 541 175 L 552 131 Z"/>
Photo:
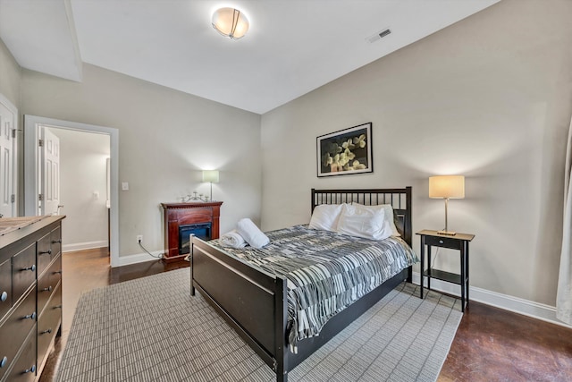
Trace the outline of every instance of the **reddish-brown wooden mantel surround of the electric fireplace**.
<path fill-rule="evenodd" d="M 211 223 L 211 239 L 218 239 L 222 204 L 222 201 L 161 203 L 164 210 L 164 261 L 177 261 L 186 256 L 179 253 L 179 225 Z"/>

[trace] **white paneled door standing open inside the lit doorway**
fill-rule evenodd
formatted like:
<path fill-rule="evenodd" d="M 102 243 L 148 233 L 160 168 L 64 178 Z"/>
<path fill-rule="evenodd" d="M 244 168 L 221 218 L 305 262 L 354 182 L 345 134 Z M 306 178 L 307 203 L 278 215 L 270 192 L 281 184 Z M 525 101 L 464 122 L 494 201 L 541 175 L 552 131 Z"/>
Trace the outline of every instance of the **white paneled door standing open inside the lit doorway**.
<path fill-rule="evenodd" d="M 60 208 L 60 140 L 48 127 L 40 127 L 40 168 L 42 174 L 40 214 L 59 215 Z"/>

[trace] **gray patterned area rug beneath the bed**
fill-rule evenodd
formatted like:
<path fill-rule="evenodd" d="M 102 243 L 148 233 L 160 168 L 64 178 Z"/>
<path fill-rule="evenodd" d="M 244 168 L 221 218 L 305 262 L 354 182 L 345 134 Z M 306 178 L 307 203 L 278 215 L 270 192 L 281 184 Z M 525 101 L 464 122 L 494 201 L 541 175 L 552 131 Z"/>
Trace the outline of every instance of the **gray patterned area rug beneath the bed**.
<path fill-rule="evenodd" d="M 273 381 L 223 318 L 189 293 L 189 268 L 81 296 L 58 381 Z M 434 381 L 462 313 L 400 284 L 290 371 L 290 381 Z"/>

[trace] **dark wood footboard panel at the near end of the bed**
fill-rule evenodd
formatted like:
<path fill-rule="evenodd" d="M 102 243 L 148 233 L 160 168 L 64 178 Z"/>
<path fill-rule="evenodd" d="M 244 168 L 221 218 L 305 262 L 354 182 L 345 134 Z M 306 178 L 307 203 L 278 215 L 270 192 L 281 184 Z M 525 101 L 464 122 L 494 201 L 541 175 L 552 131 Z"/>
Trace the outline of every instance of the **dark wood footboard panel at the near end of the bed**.
<path fill-rule="evenodd" d="M 288 372 L 286 280 L 191 240 L 191 293 L 195 288 L 276 373 Z"/>

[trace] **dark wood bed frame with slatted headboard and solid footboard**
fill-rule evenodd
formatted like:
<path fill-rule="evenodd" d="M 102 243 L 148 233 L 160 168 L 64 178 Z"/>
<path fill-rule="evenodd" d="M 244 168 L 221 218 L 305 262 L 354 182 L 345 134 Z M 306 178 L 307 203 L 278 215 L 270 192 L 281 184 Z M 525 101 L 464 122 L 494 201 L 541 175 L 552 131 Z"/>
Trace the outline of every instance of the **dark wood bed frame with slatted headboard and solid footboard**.
<path fill-rule="evenodd" d="M 312 211 L 319 204 L 391 204 L 402 238 L 411 245 L 411 187 L 404 189 L 315 190 Z M 299 341 L 298 352 L 287 342 L 288 288 L 286 279 L 251 267 L 196 237 L 191 247 L 191 294 L 195 289 L 244 338 L 276 373 L 287 381 L 288 372 L 327 343 L 404 280 L 411 281 L 411 267 L 403 269 L 374 291 L 331 318 L 319 336 Z"/>

